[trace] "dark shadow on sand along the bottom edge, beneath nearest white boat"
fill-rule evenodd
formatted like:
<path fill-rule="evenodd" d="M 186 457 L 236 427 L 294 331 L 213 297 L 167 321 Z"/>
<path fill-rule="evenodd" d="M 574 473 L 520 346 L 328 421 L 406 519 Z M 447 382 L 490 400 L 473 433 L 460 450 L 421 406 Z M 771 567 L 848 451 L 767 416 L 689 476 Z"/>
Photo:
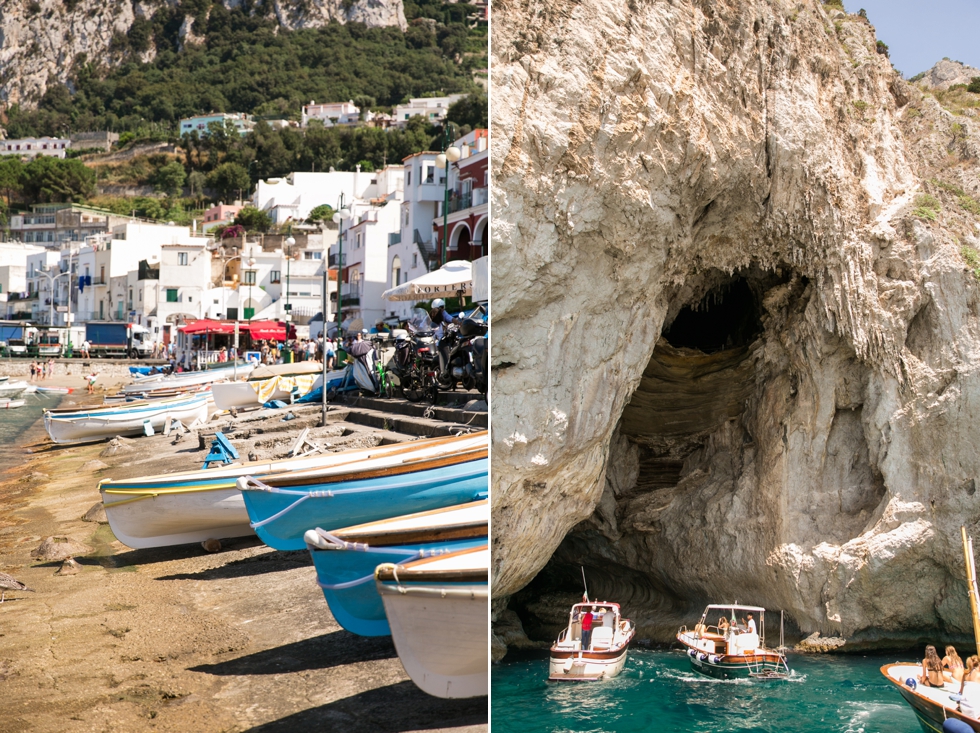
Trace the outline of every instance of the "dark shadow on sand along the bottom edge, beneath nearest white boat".
<path fill-rule="evenodd" d="M 487 720 L 486 697 L 444 700 L 425 694 L 406 680 L 263 723 L 244 733 L 326 729 L 345 733 L 400 733 L 486 725 Z"/>

